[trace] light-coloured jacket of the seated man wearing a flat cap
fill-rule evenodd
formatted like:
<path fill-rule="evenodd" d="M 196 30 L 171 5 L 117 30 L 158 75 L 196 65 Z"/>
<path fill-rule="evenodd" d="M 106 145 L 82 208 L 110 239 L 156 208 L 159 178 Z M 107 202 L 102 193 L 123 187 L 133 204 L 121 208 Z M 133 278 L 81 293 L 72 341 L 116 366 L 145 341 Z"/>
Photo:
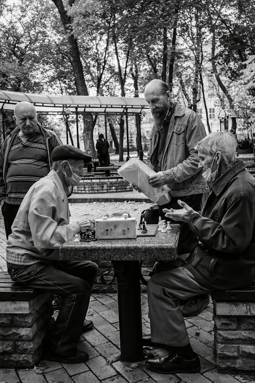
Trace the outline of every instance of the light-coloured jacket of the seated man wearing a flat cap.
<path fill-rule="evenodd" d="M 25 195 L 8 237 L 6 260 L 16 265 L 59 260 L 59 247 L 80 232 L 69 223 L 67 196 L 52 170 Z"/>

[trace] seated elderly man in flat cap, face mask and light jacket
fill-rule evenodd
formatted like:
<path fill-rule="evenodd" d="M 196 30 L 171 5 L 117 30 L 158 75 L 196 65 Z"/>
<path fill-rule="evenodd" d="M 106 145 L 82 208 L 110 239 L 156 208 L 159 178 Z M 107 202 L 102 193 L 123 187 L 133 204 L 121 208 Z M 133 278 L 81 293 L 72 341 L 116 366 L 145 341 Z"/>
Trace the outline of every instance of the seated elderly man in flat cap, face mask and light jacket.
<path fill-rule="evenodd" d="M 14 281 L 58 294 L 63 299 L 56 321 L 50 325 L 44 358 L 61 363 L 88 359 L 77 349 L 83 330 L 97 265 L 91 261 L 60 261 L 59 248 L 94 222 L 83 218 L 69 223 L 67 194 L 83 176 L 91 156 L 69 145 L 52 152 L 52 170 L 25 195 L 7 242 L 7 268 Z"/>

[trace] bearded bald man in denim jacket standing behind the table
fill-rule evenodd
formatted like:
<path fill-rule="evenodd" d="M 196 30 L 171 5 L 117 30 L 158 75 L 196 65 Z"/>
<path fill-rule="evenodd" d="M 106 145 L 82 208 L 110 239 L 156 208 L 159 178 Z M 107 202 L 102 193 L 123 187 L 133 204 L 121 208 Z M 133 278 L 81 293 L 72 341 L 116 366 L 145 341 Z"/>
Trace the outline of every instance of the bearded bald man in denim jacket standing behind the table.
<path fill-rule="evenodd" d="M 147 224 L 158 223 L 158 218 L 166 219 L 163 208 L 180 206 L 177 200 L 181 198 L 195 210 L 201 209 L 202 193 L 207 192 L 208 186 L 198 168 L 196 145 L 206 136 L 197 114 L 180 103 L 171 101 L 171 94 L 167 84 L 161 80 L 152 80 L 144 90 L 155 125 L 151 132 L 147 164 L 157 174 L 151 177 L 151 186 L 158 187 L 167 184 L 170 187 L 171 201 L 159 209 L 148 209 L 144 215 Z M 151 214 L 152 213 L 152 214 Z M 170 219 L 168 219 L 170 221 Z M 179 255 L 192 253 L 197 245 L 197 237 L 186 223 L 180 222 L 181 231 L 177 253 Z M 180 258 L 181 259 L 181 258 Z M 160 262 L 155 271 L 173 267 L 166 262 Z M 192 304 L 191 304 L 192 303 Z M 197 315 L 209 303 L 208 295 L 197 297 L 184 307 L 184 315 Z"/>

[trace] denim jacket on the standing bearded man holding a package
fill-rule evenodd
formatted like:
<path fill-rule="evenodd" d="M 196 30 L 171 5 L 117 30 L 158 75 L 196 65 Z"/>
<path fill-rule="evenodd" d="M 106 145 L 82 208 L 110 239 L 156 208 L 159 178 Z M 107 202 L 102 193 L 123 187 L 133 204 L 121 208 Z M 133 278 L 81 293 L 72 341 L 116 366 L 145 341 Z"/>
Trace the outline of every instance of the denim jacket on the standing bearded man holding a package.
<path fill-rule="evenodd" d="M 206 130 L 197 114 L 179 103 L 170 118 L 161 170 L 164 173 L 170 195 L 173 197 L 205 193 L 207 183 L 198 168 L 197 143 L 206 136 Z M 157 156 L 159 133 L 152 129 L 147 164 L 152 169 L 152 156 Z M 156 169 L 154 169 L 156 171 Z"/>

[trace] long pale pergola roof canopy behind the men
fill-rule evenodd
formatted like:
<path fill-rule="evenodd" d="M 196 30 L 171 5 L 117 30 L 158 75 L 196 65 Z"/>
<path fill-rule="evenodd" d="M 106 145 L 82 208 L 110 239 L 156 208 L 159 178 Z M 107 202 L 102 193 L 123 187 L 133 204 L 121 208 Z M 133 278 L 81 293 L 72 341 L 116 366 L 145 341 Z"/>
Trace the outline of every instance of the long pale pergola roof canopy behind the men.
<path fill-rule="evenodd" d="M 105 97 L 85 95 L 47 95 L 0 90 L 0 108 L 14 110 L 20 101 L 29 101 L 38 113 L 136 114 L 149 108 L 139 97 Z"/>

